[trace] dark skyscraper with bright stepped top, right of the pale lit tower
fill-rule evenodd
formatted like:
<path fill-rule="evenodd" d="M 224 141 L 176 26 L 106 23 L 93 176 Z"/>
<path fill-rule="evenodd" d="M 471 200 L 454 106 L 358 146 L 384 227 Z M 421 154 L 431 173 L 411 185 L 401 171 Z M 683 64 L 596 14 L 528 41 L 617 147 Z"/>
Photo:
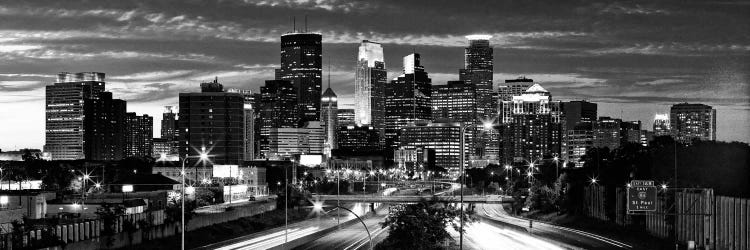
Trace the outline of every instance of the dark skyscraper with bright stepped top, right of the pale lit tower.
<path fill-rule="evenodd" d="M 420 63 L 419 54 L 404 57 L 403 74 L 386 85 L 385 143 L 398 147 L 401 128 L 432 119 L 432 80 Z"/>

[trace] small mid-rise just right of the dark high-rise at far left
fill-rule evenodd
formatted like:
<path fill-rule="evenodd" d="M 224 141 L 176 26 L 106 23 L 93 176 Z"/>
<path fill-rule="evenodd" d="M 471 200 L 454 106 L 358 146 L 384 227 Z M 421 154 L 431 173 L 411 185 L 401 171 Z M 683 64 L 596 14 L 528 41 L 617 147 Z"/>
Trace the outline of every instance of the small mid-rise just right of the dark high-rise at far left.
<path fill-rule="evenodd" d="M 125 157 L 145 157 L 153 153 L 154 118 L 146 114 L 125 115 Z"/>

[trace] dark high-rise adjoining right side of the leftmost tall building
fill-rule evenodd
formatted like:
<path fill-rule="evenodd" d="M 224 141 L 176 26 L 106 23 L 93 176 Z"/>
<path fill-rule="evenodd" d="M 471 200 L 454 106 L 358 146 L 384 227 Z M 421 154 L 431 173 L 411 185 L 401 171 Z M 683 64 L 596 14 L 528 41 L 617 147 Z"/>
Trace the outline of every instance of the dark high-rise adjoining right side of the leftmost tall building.
<path fill-rule="evenodd" d="M 112 99 L 111 92 L 101 92 L 99 98 L 83 101 L 86 160 L 116 161 L 127 156 L 125 109 L 126 102 Z"/>

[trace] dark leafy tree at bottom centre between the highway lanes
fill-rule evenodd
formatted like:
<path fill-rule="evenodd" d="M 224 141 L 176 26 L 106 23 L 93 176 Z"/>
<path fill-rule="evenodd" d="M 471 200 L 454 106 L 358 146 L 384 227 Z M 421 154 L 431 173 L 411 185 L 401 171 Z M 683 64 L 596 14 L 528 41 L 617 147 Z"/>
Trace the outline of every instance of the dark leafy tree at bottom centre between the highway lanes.
<path fill-rule="evenodd" d="M 464 214 L 464 226 L 470 224 L 472 212 Z M 460 230 L 459 209 L 436 199 L 417 204 L 399 204 L 389 208 L 389 216 L 381 225 L 390 227 L 388 237 L 376 249 L 443 249 L 452 237 L 446 227 Z"/>

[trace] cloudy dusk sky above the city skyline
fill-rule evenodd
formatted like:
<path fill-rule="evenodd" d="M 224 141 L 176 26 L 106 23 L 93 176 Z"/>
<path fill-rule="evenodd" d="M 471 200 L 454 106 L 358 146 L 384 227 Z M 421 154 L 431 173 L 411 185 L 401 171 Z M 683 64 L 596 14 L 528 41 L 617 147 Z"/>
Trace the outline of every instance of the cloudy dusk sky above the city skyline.
<path fill-rule="evenodd" d="M 345 108 L 361 40 L 383 43 L 389 78 L 416 51 L 433 84 L 445 84 L 463 67 L 464 36 L 484 33 L 494 36 L 495 86 L 526 76 L 554 99 L 598 102 L 600 116 L 649 130 L 674 103 L 705 103 L 717 109 L 719 140 L 750 142 L 748 13 L 748 1 L 707 0 L 4 0 L 0 149 L 43 146 L 44 86 L 61 71 L 105 72 L 107 90 L 154 116 L 158 136 L 179 92 L 215 76 L 253 91 L 272 79 L 279 36 L 293 16 L 304 29 L 306 15 Z"/>

